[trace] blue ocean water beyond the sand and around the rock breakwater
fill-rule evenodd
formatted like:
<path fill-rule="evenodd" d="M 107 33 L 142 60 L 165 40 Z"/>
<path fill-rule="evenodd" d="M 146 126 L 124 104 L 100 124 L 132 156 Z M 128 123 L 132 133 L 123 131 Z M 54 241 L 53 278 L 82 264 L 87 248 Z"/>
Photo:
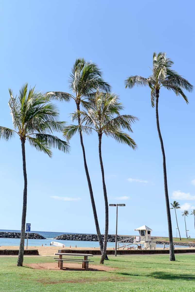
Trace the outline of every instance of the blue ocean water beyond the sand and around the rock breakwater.
<path fill-rule="evenodd" d="M 20 232 L 20 230 L 4 230 L 0 229 L 0 232 Z M 75 234 L 71 232 L 49 232 L 49 231 L 31 231 L 29 233 L 39 233 L 40 235 L 46 237 L 46 239 L 28 239 L 28 246 L 42 246 L 42 244 L 45 246 L 49 245 L 51 241 L 58 241 L 64 246 L 72 246 L 74 247 L 77 245 L 77 247 L 99 247 L 98 241 L 80 241 L 80 240 L 56 240 L 54 237 L 61 235 L 61 234 Z M 79 233 L 78 233 L 79 234 Z M 25 246 L 26 246 L 25 239 Z M 0 246 L 2 245 L 8 245 L 8 246 L 19 246 L 20 245 L 20 238 L 0 238 Z M 115 242 L 108 242 L 108 247 L 115 247 Z M 157 244 L 156 247 L 163 247 L 163 244 Z M 169 247 L 169 245 L 165 244 L 165 247 Z M 175 247 L 187 247 L 187 246 L 176 246 Z"/>

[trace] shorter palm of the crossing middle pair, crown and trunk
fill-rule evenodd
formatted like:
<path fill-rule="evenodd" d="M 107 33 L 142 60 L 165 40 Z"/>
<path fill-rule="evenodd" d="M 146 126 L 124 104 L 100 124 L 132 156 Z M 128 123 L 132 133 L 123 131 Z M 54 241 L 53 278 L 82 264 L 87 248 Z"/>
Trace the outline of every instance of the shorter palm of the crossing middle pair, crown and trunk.
<path fill-rule="evenodd" d="M 103 252 L 100 263 L 103 264 L 106 256 L 106 247 L 108 240 L 108 198 L 106 191 L 106 184 L 104 178 L 104 168 L 101 154 L 101 140 L 102 135 L 111 136 L 117 142 L 127 144 L 132 149 L 136 149 L 136 143 L 134 140 L 122 129 L 127 129 L 132 132 L 131 124 L 134 123 L 137 118 L 130 115 L 120 115 L 120 110 L 123 109 L 122 104 L 119 102 L 118 96 L 114 93 L 104 93 L 96 91 L 91 95 L 88 103 L 87 111 L 77 111 L 73 113 L 73 121 L 80 119 L 79 125 L 66 126 L 64 130 L 64 137 L 69 141 L 70 138 L 77 132 L 82 131 L 90 134 L 92 131 L 96 131 L 99 139 L 99 161 L 102 174 L 103 195 L 105 201 L 105 235 Z"/>

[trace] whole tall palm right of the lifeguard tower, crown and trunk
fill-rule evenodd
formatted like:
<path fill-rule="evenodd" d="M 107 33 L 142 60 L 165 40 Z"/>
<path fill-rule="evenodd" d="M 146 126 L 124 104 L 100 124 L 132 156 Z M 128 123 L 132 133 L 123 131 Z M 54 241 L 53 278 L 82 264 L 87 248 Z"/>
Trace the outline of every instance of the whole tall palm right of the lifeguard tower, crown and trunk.
<path fill-rule="evenodd" d="M 167 185 L 167 171 L 166 171 L 166 160 L 165 160 L 165 150 L 163 146 L 163 139 L 159 126 L 158 118 L 158 99 L 160 88 L 164 87 L 168 90 L 172 90 L 176 95 L 182 96 L 185 102 L 188 103 L 188 99 L 183 92 L 183 89 L 191 92 L 193 86 L 184 79 L 181 75 L 171 69 L 173 61 L 166 58 L 166 53 L 153 53 L 153 67 L 152 73 L 148 78 L 141 76 L 130 76 L 125 80 L 125 87 L 133 88 L 137 86 L 149 86 L 151 90 L 151 105 L 155 107 L 156 104 L 156 126 L 158 131 L 158 137 L 161 143 L 161 151 L 163 156 L 163 174 L 164 174 L 164 189 L 165 189 L 165 202 L 167 210 L 167 220 L 168 220 L 168 231 L 169 231 L 169 242 L 170 242 L 170 260 L 175 260 L 173 238 L 172 238 L 172 226 L 171 226 L 171 214 L 169 207 L 169 196 L 168 196 L 168 185 Z"/>

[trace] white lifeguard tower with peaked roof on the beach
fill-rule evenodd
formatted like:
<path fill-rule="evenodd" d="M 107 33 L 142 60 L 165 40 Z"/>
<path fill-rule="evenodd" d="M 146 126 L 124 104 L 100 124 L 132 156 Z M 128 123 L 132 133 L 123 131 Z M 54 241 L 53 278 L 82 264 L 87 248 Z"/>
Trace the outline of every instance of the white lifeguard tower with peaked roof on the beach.
<path fill-rule="evenodd" d="M 139 231 L 139 236 L 134 237 L 133 243 L 135 244 L 135 248 L 141 248 L 141 249 L 155 249 L 156 248 L 156 243 L 151 242 L 151 231 L 152 229 L 149 228 L 146 225 L 143 225 L 141 227 L 138 227 L 134 230 Z"/>

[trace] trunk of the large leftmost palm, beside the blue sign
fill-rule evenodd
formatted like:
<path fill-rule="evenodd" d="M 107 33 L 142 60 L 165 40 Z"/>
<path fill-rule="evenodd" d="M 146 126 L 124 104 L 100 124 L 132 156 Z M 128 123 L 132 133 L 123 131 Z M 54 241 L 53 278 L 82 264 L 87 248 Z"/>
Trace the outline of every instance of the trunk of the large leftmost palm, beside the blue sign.
<path fill-rule="evenodd" d="M 26 158 L 25 158 L 25 138 L 21 138 L 21 143 L 22 143 L 22 160 L 23 160 L 23 175 L 24 175 L 24 192 L 23 192 L 20 248 L 19 248 L 19 255 L 18 255 L 18 262 L 17 262 L 17 266 L 19 267 L 23 265 L 23 258 L 24 258 L 24 239 L 25 239 L 25 222 L 26 222 L 26 206 L 27 206 L 27 174 L 26 174 Z"/>

